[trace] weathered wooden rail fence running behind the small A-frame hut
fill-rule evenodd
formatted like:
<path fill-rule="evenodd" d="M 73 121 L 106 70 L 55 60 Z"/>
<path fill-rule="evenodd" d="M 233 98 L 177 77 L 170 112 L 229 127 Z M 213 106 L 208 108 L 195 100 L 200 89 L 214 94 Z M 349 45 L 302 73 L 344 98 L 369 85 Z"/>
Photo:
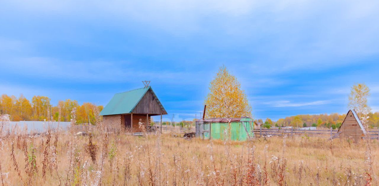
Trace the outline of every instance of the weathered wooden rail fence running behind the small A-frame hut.
<path fill-rule="evenodd" d="M 337 133 L 338 130 L 333 130 L 330 128 L 329 130 L 301 130 L 301 129 L 254 129 L 254 136 L 255 137 L 262 137 L 262 136 L 295 136 L 295 135 L 307 135 L 307 136 L 314 136 L 314 137 L 326 137 L 331 138 L 333 135 Z M 378 130 L 369 130 L 367 131 L 371 139 L 377 139 L 379 140 L 379 129 Z"/>

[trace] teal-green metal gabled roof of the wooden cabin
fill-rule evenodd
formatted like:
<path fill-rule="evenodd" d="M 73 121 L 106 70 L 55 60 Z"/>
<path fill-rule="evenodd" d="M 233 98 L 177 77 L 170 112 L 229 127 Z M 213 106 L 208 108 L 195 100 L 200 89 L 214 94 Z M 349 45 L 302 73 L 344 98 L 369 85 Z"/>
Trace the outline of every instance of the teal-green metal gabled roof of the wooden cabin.
<path fill-rule="evenodd" d="M 157 97 L 150 86 L 147 88 L 138 88 L 136 90 L 130 90 L 115 94 L 111 101 L 109 101 L 109 103 L 106 104 L 106 106 L 100 112 L 100 115 L 104 116 L 131 113 L 149 89 L 151 89 L 154 96 Z M 163 105 L 160 103 L 160 101 L 158 101 L 158 104 L 161 106 L 163 112 L 166 113 L 166 110 L 164 110 Z"/>

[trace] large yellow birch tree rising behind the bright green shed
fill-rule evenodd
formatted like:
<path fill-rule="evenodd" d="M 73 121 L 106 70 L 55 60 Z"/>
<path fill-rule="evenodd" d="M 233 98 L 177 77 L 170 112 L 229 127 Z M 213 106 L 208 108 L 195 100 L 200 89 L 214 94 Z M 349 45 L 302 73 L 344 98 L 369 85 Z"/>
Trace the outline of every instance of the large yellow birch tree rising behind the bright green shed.
<path fill-rule="evenodd" d="M 207 118 L 251 117 L 251 106 L 241 90 L 240 82 L 225 66 L 220 67 L 215 79 L 210 82 L 209 91 L 205 99 Z"/>

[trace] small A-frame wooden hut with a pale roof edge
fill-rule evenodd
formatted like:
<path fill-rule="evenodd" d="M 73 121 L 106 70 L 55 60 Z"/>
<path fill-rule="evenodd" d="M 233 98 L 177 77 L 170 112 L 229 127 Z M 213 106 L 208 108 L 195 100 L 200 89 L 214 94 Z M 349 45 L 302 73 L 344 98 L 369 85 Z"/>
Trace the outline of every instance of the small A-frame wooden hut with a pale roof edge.
<path fill-rule="evenodd" d="M 364 137 L 366 134 L 365 127 L 363 127 L 354 110 L 349 110 L 337 134 L 340 138 L 352 138 L 355 141 L 359 141 Z"/>

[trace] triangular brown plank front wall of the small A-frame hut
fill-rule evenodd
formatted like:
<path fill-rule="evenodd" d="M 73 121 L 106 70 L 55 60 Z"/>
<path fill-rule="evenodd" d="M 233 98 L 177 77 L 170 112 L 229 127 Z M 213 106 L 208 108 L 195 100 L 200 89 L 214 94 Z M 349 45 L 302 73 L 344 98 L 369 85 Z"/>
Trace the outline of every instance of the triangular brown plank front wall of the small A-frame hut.
<path fill-rule="evenodd" d="M 341 132 L 341 138 L 349 138 L 351 136 L 354 140 L 359 141 L 363 136 L 363 131 L 351 111 L 348 112 L 339 131 Z"/>

